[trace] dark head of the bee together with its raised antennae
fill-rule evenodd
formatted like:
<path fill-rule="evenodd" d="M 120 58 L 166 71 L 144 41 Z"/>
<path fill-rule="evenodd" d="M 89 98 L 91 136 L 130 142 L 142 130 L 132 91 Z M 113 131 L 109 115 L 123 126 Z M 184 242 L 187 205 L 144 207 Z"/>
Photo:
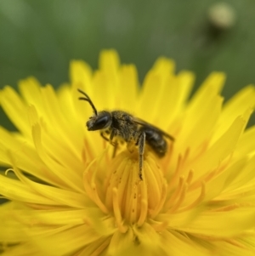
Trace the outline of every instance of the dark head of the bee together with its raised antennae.
<path fill-rule="evenodd" d="M 88 122 L 86 122 L 88 131 L 96 131 L 104 128 L 109 128 L 111 126 L 111 113 L 107 111 L 98 112 L 92 100 L 90 100 L 90 98 L 88 97 L 88 94 L 85 94 L 80 89 L 78 89 L 78 92 L 85 96 L 85 97 L 80 97 L 79 100 L 88 101 L 89 105 L 91 105 L 94 111 L 94 116 L 89 117 Z"/>

